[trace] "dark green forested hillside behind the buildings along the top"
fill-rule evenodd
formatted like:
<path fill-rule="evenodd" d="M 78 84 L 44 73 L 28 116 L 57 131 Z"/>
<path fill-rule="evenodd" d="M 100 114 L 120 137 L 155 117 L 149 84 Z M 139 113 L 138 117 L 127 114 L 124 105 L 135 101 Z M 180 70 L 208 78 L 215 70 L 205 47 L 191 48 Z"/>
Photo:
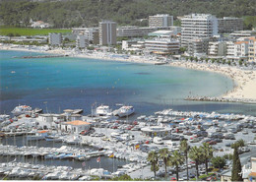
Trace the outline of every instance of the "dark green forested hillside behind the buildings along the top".
<path fill-rule="evenodd" d="M 65 0 L 0 1 L 0 23 L 28 26 L 30 20 L 43 21 L 55 28 L 97 26 L 111 19 L 119 25 L 147 26 L 149 15 L 167 13 L 174 17 L 209 13 L 217 17 L 255 16 L 255 0 Z"/>

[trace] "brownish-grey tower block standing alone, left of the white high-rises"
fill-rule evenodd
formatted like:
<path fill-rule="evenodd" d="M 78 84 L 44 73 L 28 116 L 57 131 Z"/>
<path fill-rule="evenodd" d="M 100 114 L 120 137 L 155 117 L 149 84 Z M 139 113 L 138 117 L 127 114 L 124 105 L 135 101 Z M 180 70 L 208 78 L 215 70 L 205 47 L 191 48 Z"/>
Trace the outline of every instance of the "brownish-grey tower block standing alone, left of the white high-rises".
<path fill-rule="evenodd" d="M 116 44 L 116 23 L 103 21 L 99 23 L 99 44 L 115 45 Z"/>

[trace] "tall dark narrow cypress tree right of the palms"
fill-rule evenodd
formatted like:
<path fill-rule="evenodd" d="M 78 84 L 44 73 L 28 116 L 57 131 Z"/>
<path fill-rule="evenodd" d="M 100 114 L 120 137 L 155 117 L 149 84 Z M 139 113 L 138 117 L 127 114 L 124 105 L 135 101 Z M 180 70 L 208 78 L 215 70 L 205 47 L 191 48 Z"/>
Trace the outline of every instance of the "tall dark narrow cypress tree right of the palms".
<path fill-rule="evenodd" d="M 231 181 L 242 181 L 241 175 L 241 162 L 238 155 L 238 149 L 235 147 L 233 150 L 233 164 L 231 171 Z"/>

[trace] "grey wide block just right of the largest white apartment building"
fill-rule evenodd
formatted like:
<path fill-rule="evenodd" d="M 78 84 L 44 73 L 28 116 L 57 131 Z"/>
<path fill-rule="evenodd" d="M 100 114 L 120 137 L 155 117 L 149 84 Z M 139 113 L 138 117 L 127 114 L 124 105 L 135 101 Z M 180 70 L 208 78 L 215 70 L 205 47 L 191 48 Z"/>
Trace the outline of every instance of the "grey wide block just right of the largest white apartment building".
<path fill-rule="evenodd" d="M 224 17 L 218 19 L 219 33 L 243 30 L 243 20 L 241 18 Z"/>

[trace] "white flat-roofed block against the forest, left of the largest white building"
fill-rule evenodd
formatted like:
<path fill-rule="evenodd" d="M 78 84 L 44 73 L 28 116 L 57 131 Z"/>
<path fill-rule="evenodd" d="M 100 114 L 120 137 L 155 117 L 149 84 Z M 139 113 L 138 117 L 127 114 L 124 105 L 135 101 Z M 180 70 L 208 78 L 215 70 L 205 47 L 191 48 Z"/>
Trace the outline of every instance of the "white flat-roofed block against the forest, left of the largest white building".
<path fill-rule="evenodd" d="M 173 26 L 173 16 L 168 14 L 158 14 L 149 16 L 150 28 L 167 28 Z"/>

